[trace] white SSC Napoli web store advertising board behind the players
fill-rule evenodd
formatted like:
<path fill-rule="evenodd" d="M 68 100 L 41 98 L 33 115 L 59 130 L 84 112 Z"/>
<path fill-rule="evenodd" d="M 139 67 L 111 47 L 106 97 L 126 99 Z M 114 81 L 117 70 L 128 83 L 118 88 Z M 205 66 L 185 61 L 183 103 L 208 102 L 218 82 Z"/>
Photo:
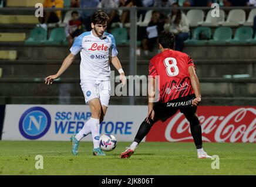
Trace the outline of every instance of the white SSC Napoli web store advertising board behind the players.
<path fill-rule="evenodd" d="M 132 141 L 146 115 L 146 106 L 109 106 L 100 134 Z M 90 116 L 85 105 L 6 105 L 2 140 L 69 140 Z"/>

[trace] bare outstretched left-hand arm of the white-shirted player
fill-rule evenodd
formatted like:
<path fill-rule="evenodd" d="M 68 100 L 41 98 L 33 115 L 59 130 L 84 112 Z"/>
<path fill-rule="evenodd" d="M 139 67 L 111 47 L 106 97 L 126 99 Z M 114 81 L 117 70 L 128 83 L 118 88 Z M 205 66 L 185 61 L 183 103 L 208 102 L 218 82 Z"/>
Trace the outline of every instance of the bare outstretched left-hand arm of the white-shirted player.
<path fill-rule="evenodd" d="M 68 69 L 68 67 L 73 63 L 75 60 L 75 55 L 70 53 L 68 57 L 65 58 L 65 60 L 62 63 L 62 66 L 59 68 L 59 71 L 55 75 L 50 75 L 45 78 L 45 84 L 49 85 L 52 84 L 53 80 L 57 79 L 60 77 L 60 75 L 63 74 L 63 72 Z"/>

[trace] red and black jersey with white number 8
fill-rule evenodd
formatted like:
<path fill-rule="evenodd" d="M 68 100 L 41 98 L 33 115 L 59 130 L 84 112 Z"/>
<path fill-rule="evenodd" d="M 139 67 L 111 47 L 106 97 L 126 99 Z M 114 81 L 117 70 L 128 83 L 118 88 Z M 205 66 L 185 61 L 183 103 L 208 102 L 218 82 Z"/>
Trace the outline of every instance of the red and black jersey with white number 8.
<path fill-rule="evenodd" d="M 163 51 L 150 60 L 149 75 L 159 79 L 159 102 L 170 102 L 194 93 L 188 72 L 190 65 L 194 66 L 192 58 L 174 50 Z"/>

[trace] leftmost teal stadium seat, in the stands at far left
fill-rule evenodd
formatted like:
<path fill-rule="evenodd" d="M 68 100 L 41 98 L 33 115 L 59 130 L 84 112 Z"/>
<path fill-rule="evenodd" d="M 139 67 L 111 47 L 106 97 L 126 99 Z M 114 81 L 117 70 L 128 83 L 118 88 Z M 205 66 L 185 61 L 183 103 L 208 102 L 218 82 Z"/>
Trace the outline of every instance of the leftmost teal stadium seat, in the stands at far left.
<path fill-rule="evenodd" d="M 36 27 L 31 30 L 28 40 L 25 44 L 42 44 L 47 40 L 47 31 L 42 27 Z"/>

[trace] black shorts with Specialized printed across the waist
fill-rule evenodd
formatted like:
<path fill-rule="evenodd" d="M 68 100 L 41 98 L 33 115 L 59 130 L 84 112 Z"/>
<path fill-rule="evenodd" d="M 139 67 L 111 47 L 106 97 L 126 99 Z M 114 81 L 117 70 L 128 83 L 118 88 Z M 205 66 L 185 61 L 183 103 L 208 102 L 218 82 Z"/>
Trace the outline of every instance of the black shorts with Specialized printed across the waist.
<path fill-rule="evenodd" d="M 178 110 L 181 113 L 184 113 L 185 116 L 193 116 L 196 111 L 197 107 L 192 106 L 193 99 L 196 98 L 194 94 L 184 96 L 182 98 L 174 99 L 173 101 L 167 103 L 154 103 L 154 122 L 161 120 L 165 122 L 169 117 L 176 114 Z"/>

